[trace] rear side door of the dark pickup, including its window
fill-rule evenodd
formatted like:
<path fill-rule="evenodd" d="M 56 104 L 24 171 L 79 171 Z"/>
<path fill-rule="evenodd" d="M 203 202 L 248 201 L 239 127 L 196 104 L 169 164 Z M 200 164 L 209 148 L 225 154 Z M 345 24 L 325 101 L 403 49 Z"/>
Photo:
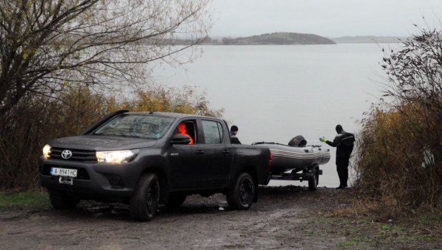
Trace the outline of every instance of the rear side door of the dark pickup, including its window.
<path fill-rule="evenodd" d="M 220 188 L 227 184 L 233 153 L 220 121 L 202 119 L 204 163 L 198 182 L 201 188 Z"/>

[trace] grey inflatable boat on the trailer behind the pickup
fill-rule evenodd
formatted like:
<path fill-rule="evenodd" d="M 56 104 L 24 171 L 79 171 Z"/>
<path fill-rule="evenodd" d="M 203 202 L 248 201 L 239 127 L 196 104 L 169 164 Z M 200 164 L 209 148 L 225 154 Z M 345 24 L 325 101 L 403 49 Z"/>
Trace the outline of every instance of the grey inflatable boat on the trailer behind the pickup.
<path fill-rule="evenodd" d="M 269 148 L 272 152 L 272 175 L 289 170 L 301 170 L 314 165 L 322 165 L 330 161 L 330 150 L 321 146 L 306 146 L 302 136 L 296 136 L 289 144 L 274 142 L 254 142 L 252 145 Z"/>

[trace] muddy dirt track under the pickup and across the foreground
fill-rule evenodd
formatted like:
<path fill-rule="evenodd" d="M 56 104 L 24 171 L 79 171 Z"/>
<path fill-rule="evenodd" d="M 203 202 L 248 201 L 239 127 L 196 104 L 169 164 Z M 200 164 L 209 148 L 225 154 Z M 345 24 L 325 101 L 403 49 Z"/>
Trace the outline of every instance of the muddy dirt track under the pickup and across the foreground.
<path fill-rule="evenodd" d="M 160 207 L 145 223 L 132 221 L 117 204 L 6 210 L 0 214 L 0 249 L 342 249 L 354 236 L 321 217 L 348 206 L 349 195 L 350 189 L 262 187 L 259 202 L 247 211 L 229 210 L 223 195 L 194 195 L 178 209 Z"/>

